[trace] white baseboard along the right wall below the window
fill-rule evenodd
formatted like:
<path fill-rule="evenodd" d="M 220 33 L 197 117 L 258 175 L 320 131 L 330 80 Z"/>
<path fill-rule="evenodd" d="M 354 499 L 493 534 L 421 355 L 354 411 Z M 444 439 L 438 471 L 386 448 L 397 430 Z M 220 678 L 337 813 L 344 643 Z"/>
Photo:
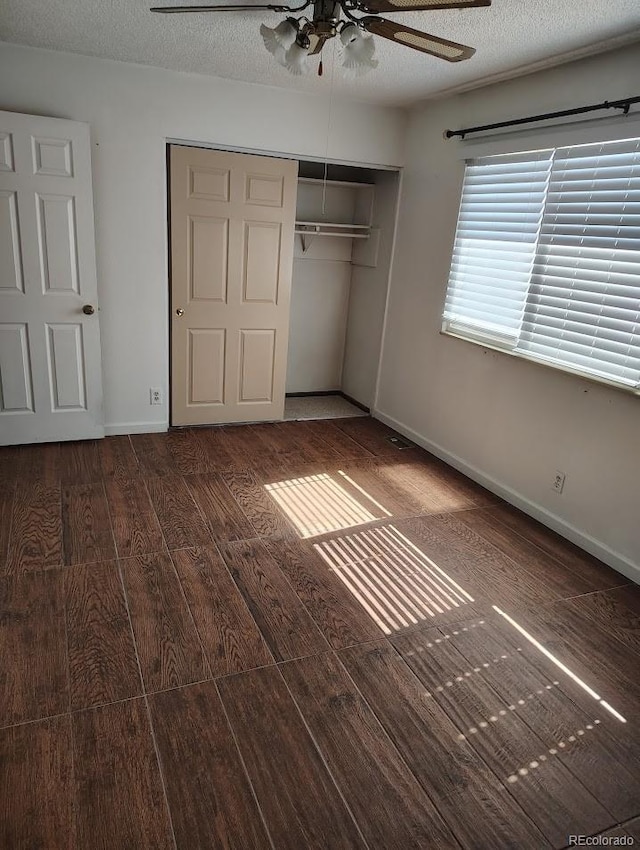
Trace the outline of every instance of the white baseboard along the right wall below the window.
<path fill-rule="evenodd" d="M 491 490 L 492 493 L 500 496 L 500 498 L 504 499 L 505 502 L 509 502 L 509 504 L 514 505 L 516 508 L 524 511 L 524 513 L 534 519 L 537 519 L 543 525 L 557 531 L 558 534 L 562 535 L 562 537 L 565 537 L 581 549 L 584 549 L 586 552 L 589 552 L 596 558 L 599 558 L 617 572 L 622 573 L 622 575 L 626 576 L 626 578 L 636 582 L 636 584 L 640 584 L 640 567 L 636 566 L 636 564 L 624 555 L 615 552 L 604 543 L 590 537 L 588 534 L 585 534 L 585 532 L 575 528 L 575 526 L 570 525 L 565 520 L 555 514 L 552 514 L 546 508 L 537 505 L 535 502 L 531 502 L 529 499 L 521 496 L 510 487 L 506 487 L 504 484 L 496 481 L 495 478 L 487 475 L 481 469 L 468 464 L 462 458 L 451 454 L 446 449 L 443 449 L 442 446 L 439 446 L 437 443 L 427 440 L 403 422 L 399 422 L 397 419 L 394 419 L 392 416 L 388 416 L 381 410 L 372 410 L 371 415 L 375 419 L 379 419 L 381 422 L 384 422 L 384 424 L 388 425 L 390 428 L 398 431 L 398 433 L 403 434 L 410 440 L 413 440 L 414 443 L 421 446 L 423 449 L 426 449 L 428 452 L 431 452 L 431 454 L 434 454 L 436 457 L 444 460 L 445 463 L 453 466 L 454 469 L 459 470 L 468 478 L 471 478 L 473 481 L 476 481 L 478 484 L 486 487 L 487 490 Z"/>

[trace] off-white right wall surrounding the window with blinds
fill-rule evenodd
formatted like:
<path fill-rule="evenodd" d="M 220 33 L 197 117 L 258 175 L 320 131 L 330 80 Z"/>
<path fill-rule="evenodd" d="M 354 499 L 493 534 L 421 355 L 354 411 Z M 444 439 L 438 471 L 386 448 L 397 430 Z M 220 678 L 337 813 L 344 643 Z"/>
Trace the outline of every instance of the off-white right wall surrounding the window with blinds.
<path fill-rule="evenodd" d="M 638 68 L 635 45 L 412 115 L 377 408 L 640 581 L 640 398 L 439 333 L 463 176 L 443 131 L 636 95 Z"/>

